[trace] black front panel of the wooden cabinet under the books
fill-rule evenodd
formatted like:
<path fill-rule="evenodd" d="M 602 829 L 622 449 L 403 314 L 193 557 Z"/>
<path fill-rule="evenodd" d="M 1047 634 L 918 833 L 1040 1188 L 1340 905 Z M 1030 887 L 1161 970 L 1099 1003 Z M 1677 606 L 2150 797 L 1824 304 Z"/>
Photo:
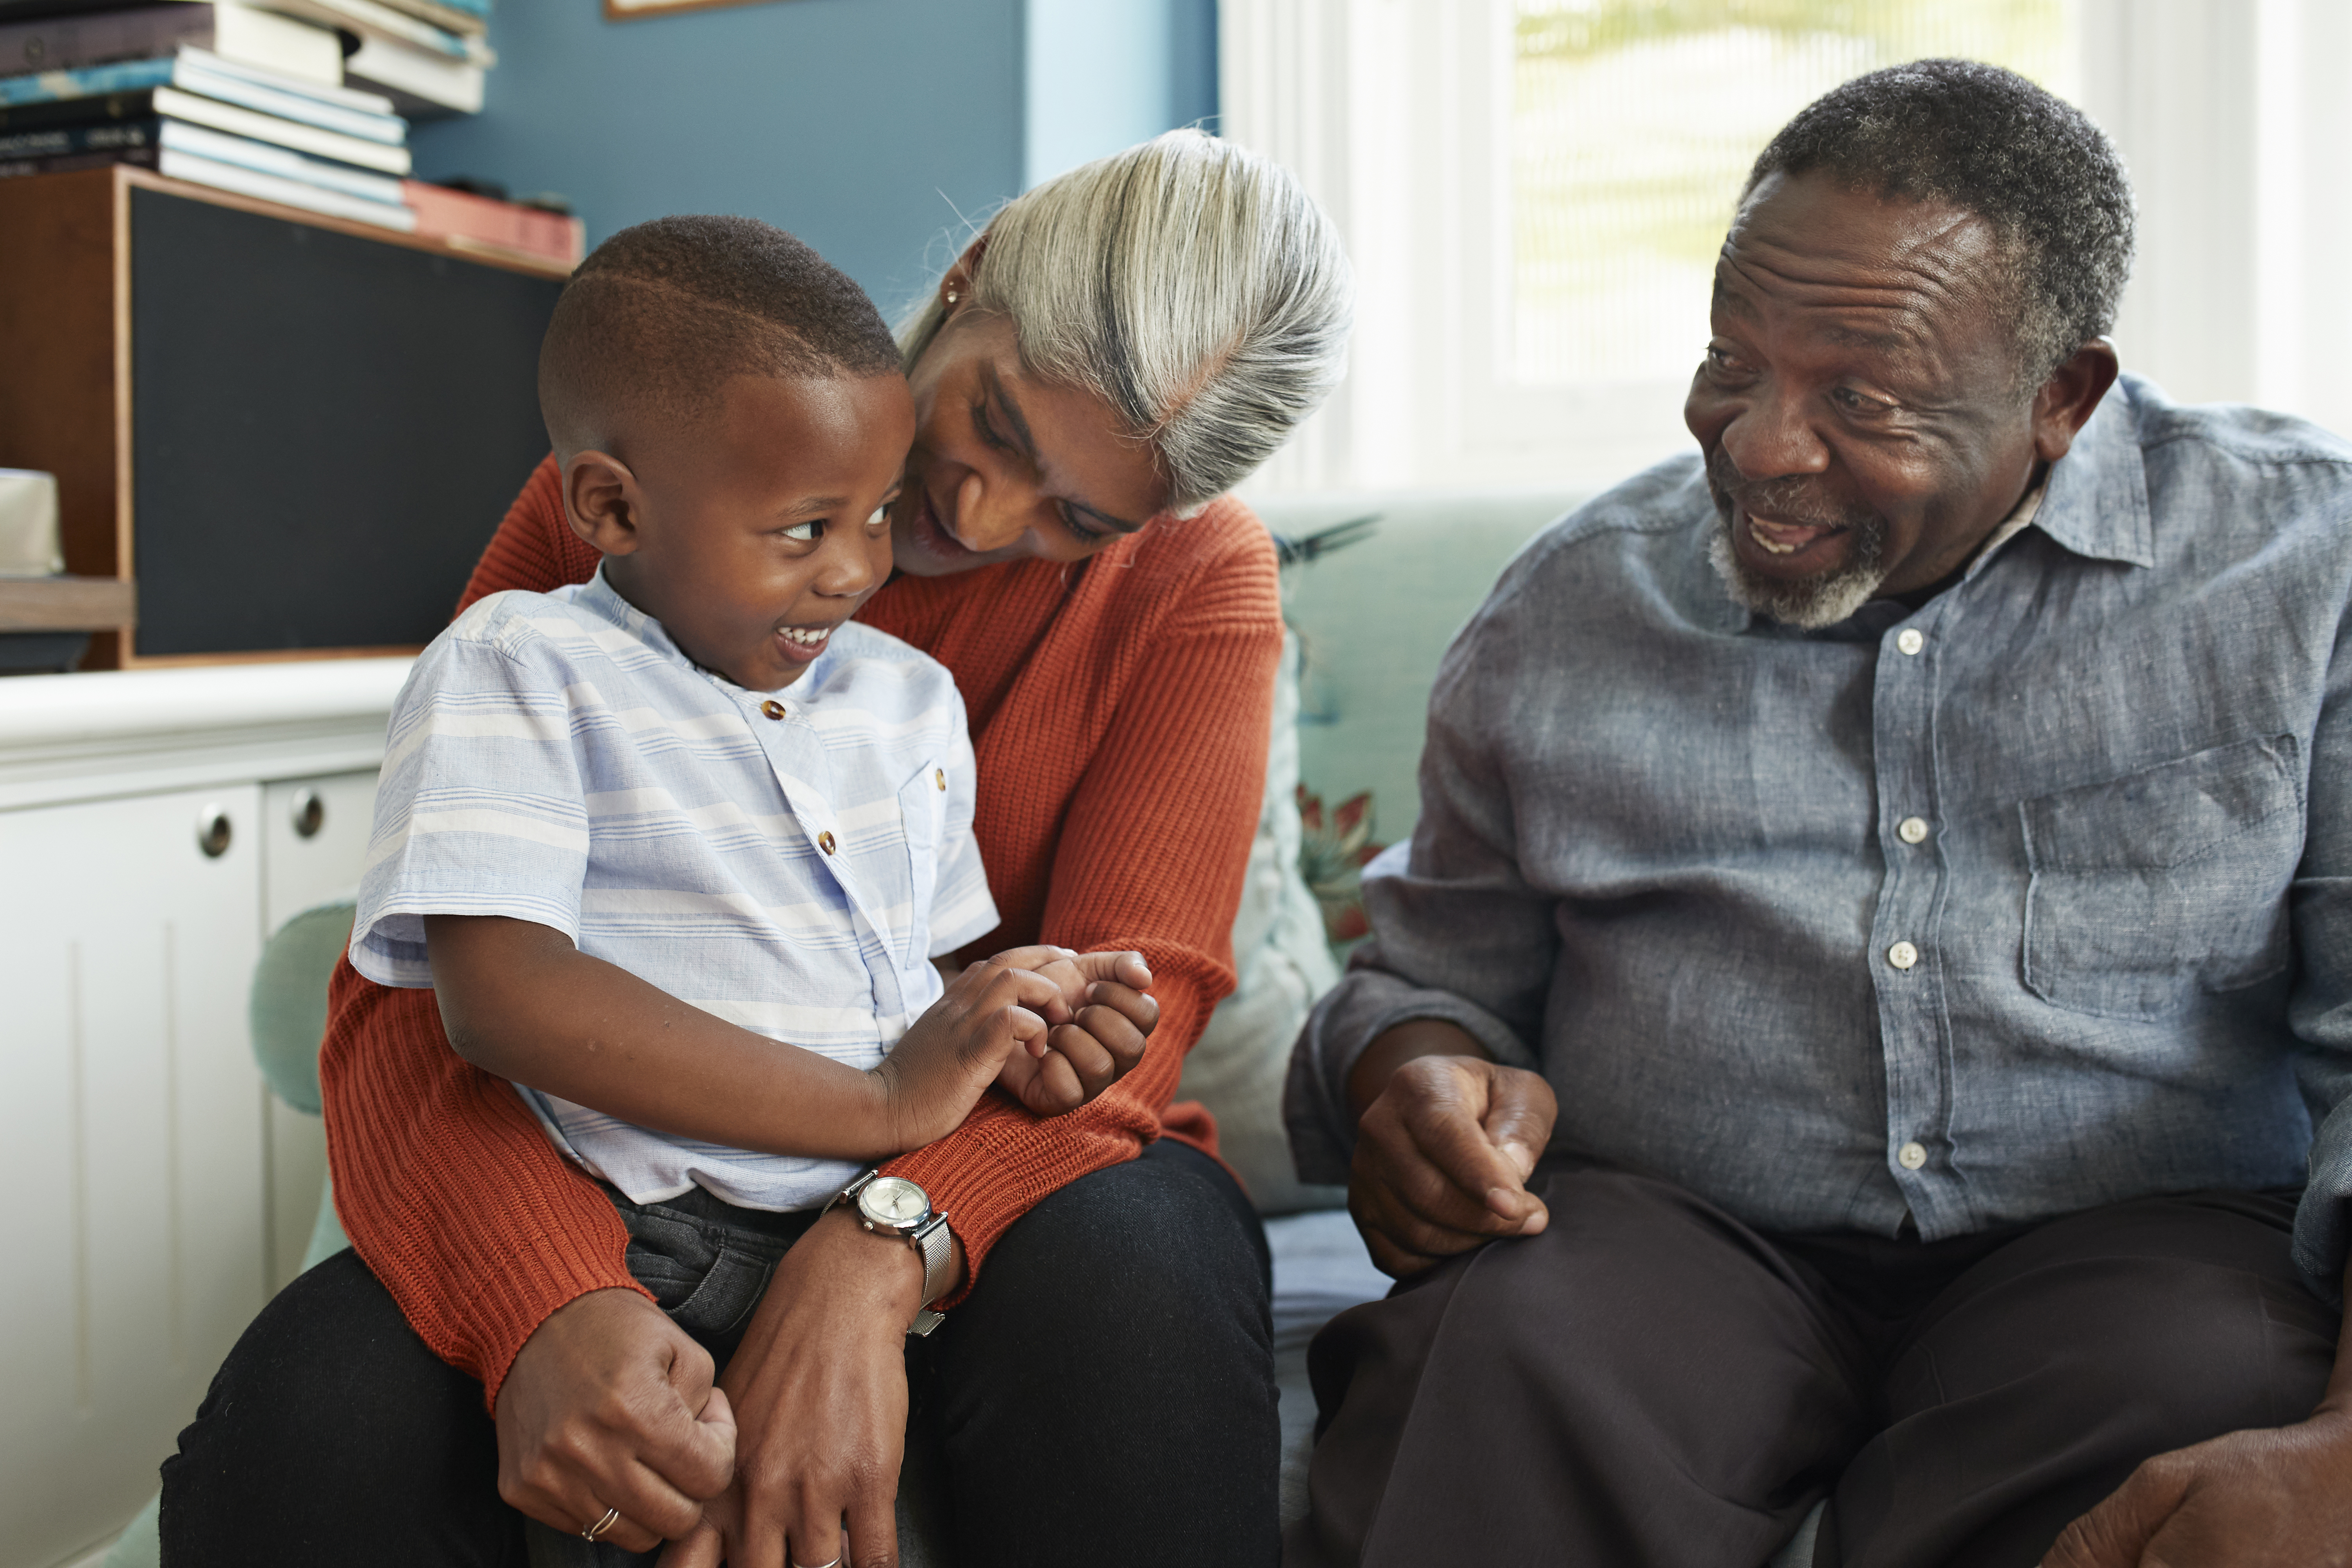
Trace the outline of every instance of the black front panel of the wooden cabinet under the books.
<path fill-rule="evenodd" d="M 562 282 L 129 200 L 139 654 L 430 642 L 548 451 Z"/>

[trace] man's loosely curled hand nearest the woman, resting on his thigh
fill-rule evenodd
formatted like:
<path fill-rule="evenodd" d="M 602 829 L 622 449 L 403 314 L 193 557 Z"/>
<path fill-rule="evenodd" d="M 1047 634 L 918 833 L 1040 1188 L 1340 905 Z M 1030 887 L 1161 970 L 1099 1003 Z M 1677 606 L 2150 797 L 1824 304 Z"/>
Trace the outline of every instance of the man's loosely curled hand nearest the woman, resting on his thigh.
<path fill-rule="evenodd" d="M 1559 1114 L 1552 1086 L 1484 1056 L 1437 1053 L 1451 1044 L 1477 1051 L 1454 1025 L 1406 1023 L 1381 1034 L 1350 1074 L 1350 1091 L 1369 1105 L 1355 1131 L 1348 1211 L 1371 1260 L 1397 1279 L 1550 1220 L 1526 1178 Z"/>

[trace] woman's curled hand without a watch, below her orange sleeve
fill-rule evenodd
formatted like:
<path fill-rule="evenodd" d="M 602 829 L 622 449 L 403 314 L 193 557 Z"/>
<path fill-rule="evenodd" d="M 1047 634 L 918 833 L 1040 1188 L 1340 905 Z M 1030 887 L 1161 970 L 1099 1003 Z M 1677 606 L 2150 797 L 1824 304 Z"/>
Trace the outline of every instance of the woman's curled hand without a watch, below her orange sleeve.
<path fill-rule="evenodd" d="M 694 1530 L 734 1474 L 710 1352 L 635 1291 L 590 1291 L 522 1342 L 499 1387 L 499 1495 L 564 1533 L 652 1552 Z M 818 1559 L 823 1561 L 823 1559 Z"/>

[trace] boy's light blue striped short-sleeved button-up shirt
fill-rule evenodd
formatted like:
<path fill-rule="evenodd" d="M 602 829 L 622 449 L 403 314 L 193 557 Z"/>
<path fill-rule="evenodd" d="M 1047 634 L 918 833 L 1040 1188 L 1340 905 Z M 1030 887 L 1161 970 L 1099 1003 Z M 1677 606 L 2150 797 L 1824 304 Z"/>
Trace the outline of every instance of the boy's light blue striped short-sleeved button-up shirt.
<path fill-rule="evenodd" d="M 696 668 L 602 571 L 492 595 L 393 708 L 350 961 L 426 987 L 426 914 L 529 919 L 680 1001 L 873 1067 L 938 999 L 931 954 L 997 926 L 971 799 L 953 677 L 887 632 L 851 621 L 764 693 Z M 856 1173 L 522 1098 L 640 1204 L 699 1185 L 807 1208 Z"/>

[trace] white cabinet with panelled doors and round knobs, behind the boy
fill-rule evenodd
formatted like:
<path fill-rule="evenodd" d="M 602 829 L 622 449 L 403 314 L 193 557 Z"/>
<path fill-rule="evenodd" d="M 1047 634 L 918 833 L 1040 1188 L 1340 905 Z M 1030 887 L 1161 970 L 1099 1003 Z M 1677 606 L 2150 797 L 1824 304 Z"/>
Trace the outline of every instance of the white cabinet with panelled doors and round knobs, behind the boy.
<path fill-rule="evenodd" d="M 275 922 L 358 884 L 402 672 L 0 682 L 0 1568 L 153 1495 L 301 1258 L 325 1147 L 268 1105 L 247 987 Z"/>

